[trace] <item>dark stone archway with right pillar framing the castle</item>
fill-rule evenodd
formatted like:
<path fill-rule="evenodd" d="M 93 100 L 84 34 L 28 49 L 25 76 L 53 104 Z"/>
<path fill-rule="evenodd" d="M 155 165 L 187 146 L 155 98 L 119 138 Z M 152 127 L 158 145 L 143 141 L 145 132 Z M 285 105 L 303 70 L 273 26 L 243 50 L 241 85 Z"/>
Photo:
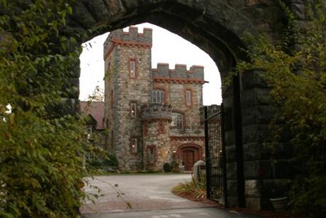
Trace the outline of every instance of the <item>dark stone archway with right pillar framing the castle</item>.
<path fill-rule="evenodd" d="M 301 13 L 302 5 L 297 1 L 295 4 Z M 237 60 L 245 59 L 241 48 L 246 48 L 246 43 L 241 39 L 247 33 L 262 31 L 276 38 L 283 20 L 283 12 L 273 0 L 77 1 L 67 19 L 67 28 L 60 34 L 79 36 L 77 43 L 68 43 L 79 46 L 107 31 L 153 23 L 206 51 L 218 65 L 221 77 L 225 77 Z M 69 75 L 69 86 L 78 90 L 79 66 Z M 262 156 L 262 141 L 269 134 L 271 107 L 266 101 L 268 89 L 257 75 L 258 72 L 251 72 L 234 77 L 232 85 L 223 90 L 223 107 L 228 202 L 230 206 L 260 209 L 266 205 L 266 196 L 259 182 L 270 178 L 261 178 L 257 170 L 269 163 L 269 158 Z M 78 95 L 72 92 L 66 96 L 72 111 L 76 109 Z"/>

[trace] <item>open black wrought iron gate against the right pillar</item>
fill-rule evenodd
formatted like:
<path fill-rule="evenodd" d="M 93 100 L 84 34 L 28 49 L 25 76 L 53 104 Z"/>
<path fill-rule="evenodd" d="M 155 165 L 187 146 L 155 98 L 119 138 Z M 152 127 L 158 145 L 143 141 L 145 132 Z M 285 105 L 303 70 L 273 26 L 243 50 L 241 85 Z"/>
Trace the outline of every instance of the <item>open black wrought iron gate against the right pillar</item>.
<path fill-rule="evenodd" d="M 204 107 L 207 197 L 227 207 L 223 106 Z"/>

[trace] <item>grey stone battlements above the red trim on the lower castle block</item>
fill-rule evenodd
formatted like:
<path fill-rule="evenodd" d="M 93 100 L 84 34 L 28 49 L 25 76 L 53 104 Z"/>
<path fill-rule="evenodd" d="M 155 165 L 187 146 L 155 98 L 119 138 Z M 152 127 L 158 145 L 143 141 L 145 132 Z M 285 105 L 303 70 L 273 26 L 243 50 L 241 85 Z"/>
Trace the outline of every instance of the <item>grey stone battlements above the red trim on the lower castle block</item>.
<path fill-rule="evenodd" d="M 169 69 L 169 64 L 167 63 L 157 63 L 157 68 L 152 69 L 153 78 L 203 80 L 203 72 L 203 66 L 192 65 L 187 70 L 186 65 L 176 64 L 174 69 Z"/>

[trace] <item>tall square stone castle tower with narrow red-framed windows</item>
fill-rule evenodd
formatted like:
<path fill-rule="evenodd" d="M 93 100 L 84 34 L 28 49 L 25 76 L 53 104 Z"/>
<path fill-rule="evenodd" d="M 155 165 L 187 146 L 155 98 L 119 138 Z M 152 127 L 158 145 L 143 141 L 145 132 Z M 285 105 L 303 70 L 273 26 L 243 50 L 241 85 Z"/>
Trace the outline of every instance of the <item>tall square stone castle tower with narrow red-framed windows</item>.
<path fill-rule="evenodd" d="M 108 146 L 123 170 L 142 170 L 140 106 L 151 100 L 152 29 L 110 33 L 104 43 Z"/>

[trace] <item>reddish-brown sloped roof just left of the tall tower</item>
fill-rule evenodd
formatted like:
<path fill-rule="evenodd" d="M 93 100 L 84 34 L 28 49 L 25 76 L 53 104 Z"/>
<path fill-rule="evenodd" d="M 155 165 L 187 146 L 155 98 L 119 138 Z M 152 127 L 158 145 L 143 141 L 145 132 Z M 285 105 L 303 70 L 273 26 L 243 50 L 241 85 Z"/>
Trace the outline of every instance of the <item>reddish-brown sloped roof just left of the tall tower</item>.
<path fill-rule="evenodd" d="M 91 116 L 96 120 L 95 128 L 104 129 L 104 102 L 80 102 L 82 116 Z"/>

